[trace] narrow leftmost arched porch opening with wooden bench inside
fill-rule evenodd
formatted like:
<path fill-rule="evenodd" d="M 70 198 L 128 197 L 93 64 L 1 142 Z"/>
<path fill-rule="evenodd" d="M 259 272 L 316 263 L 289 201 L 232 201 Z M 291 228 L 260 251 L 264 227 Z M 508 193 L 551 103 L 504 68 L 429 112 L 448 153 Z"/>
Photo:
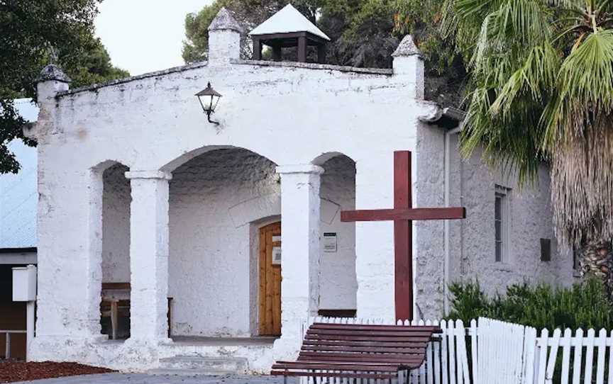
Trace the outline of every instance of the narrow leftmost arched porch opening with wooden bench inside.
<path fill-rule="evenodd" d="M 130 180 L 128 166 L 114 163 L 102 173 L 102 334 L 130 337 Z"/>

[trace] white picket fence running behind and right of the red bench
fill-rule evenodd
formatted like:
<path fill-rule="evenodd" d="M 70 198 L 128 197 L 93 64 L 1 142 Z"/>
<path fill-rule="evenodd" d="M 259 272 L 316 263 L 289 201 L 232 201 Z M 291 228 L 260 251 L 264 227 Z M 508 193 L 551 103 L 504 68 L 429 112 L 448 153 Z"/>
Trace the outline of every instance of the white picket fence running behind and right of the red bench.
<path fill-rule="evenodd" d="M 382 319 L 314 317 L 313 322 L 338 324 L 395 324 Z M 468 327 L 461 320 L 419 320 L 404 325 L 438 325 L 436 336 L 426 351 L 426 361 L 408 378 L 409 384 L 613 384 L 613 330 L 547 329 L 537 337 L 536 329 L 519 324 L 480 318 Z M 467 348 L 468 344 L 468 348 Z M 469 358 L 470 356 L 470 358 Z M 606 381 L 605 381 L 606 380 Z M 355 381 L 351 381 L 354 383 Z M 365 383 L 368 380 L 364 380 Z M 321 383 L 344 383 L 338 378 Z M 348 382 L 347 382 L 348 383 Z"/>

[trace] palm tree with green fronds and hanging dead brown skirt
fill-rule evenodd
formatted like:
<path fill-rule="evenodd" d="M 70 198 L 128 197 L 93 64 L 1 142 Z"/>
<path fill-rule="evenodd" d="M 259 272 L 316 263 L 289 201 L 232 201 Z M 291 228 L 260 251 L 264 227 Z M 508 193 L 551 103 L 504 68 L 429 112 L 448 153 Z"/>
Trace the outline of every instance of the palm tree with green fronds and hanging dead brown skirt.
<path fill-rule="evenodd" d="M 551 164 L 558 239 L 613 292 L 613 1 L 448 0 L 470 63 L 463 153 L 534 182 Z"/>

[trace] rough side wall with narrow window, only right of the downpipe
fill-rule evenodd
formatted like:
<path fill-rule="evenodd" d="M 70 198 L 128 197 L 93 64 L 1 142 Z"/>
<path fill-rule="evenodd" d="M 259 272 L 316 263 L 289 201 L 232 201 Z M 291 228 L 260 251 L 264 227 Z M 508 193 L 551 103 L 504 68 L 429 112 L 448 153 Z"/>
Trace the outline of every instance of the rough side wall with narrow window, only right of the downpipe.
<path fill-rule="evenodd" d="M 452 137 L 457 147 L 458 135 Z M 556 241 L 553 233 L 550 179 L 546 165 L 539 169 L 533 186 L 519 188 L 515 176 L 492 171 L 480 159 L 481 152 L 460 161 L 452 152 L 452 205 L 467 210 L 463 222 L 451 223 L 451 281 L 478 278 L 487 293 L 504 293 L 513 283 L 569 285 L 573 277 L 573 256 Z M 461 178 L 461 181 L 460 181 Z M 495 261 L 495 186 L 510 188 L 508 258 Z M 460 198 L 461 196 L 461 198 Z M 551 261 L 541 261 L 541 238 L 551 239 Z"/>

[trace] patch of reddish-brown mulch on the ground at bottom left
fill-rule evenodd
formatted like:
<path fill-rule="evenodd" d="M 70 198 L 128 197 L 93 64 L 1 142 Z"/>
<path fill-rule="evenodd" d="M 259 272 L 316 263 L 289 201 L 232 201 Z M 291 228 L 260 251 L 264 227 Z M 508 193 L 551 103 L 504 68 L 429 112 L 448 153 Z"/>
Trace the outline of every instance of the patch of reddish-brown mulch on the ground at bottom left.
<path fill-rule="evenodd" d="M 106 368 L 84 366 L 77 363 L 0 361 L 0 383 L 109 372 L 112 371 Z"/>

